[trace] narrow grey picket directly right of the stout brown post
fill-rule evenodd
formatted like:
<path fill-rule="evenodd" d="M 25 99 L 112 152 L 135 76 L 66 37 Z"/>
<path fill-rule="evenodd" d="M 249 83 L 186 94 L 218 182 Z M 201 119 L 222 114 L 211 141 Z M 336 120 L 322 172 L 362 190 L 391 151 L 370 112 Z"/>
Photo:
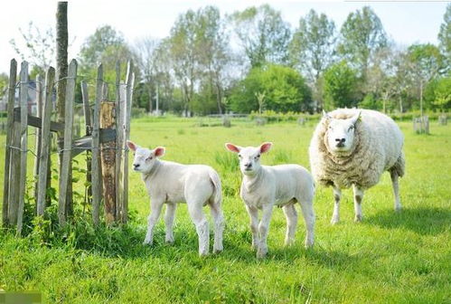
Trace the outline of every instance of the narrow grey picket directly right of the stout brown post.
<path fill-rule="evenodd" d="M 121 99 L 121 84 L 120 84 L 120 62 L 116 63 L 116 164 L 115 164 L 115 176 L 116 176 L 116 220 L 122 218 L 122 176 L 121 176 L 121 162 L 122 162 L 122 147 L 124 146 L 123 137 L 124 132 L 124 115 L 123 113 L 123 102 Z"/>

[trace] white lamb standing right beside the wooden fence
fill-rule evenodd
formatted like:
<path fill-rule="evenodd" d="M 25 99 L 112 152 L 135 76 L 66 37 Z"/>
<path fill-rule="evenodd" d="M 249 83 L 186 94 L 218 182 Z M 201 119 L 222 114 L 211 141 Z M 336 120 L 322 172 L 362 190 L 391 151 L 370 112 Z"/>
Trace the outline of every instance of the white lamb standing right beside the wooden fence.
<path fill-rule="evenodd" d="M 133 168 L 142 174 L 150 195 L 151 213 L 147 222 L 145 244 L 152 244 L 153 230 L 158 221 L 163 204 L 166 204 L 164 223 L 166 242 L 174 242 L 173 224 L 177 203 L 186 203 L 199 237 L 199 254 L 209 252 L 209 224 L 202 207 L 210 205 L 214 221 L 213 252 L 222 251 L 224 218 L 221 209 L 221 180 L 211 166 L 181 165 L 158 159 L 164 156 L 164 147 L 150 150 L 127 141 L 127 146 L 135 152 Z"/>

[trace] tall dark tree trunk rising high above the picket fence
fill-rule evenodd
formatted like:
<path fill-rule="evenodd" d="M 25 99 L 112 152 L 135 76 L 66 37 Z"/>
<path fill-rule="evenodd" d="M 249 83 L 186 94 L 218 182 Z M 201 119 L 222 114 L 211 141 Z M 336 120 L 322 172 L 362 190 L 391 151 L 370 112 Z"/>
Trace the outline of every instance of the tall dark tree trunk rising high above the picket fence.
<path fill-rule="evenodd" d="M 64 108 L 66 100 L 66 80 L 63 79 L 67 77 L 68 74 L 68 22 L 67 22 L 67 2 L 58 2 L 57 12 L 56 12 L 56 96 L 57 104 L 56 109 L 58 112 L 58 122 L 64 123 Z M 58 133 L 58 148 L 59 150 L 63 147 L 64 141 L 63 132 Z M 60 166 L 62 163 L 62 153 L 59 155 Z M 61 171 L 61 167 L 60 167 Z M 67 199 L 66 199 L 66 213 L 72 214 L 72 175 L 70 171 L 68 189 L 67 189 Z"/>

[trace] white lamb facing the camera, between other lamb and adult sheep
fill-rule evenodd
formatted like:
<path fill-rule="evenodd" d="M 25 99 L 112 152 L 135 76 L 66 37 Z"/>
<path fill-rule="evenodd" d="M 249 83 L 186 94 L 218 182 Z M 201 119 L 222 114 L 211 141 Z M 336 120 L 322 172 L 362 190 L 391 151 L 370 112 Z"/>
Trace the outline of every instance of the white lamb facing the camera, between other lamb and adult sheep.
<path fill-rule="evenodd" d="M 243 175 L 240 196 L 248 210 L 252 248 L 257 249 L 257 257 L 263 258 L 268 252 L 269 221 L 275 205 L 282 207 L 287 217 L 286 245 L 295 240 L 295 204 L 297 202 L 301 205 L 307 230 L 305 246 L 312 246 L 315 240 L 315 184 L 310 173 L 298 165 L 261 166 L 260 155 L 267 152 L 272 143 L 264 143 L 260 147 L 239 147 L 229 143 L 225 146 L 240 157 Z M 260 223 L 258 209 L 263 211 Z"/>

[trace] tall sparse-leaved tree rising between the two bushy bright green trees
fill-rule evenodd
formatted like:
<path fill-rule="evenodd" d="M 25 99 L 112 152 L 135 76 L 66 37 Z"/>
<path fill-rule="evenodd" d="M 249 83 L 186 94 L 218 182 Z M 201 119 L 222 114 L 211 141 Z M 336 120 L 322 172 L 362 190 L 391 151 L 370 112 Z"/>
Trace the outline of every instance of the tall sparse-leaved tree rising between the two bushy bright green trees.
<path fill-rule="evenodd" d="M 289 45 L 290 63 L 305 75 L 313 88 L 317 107 L 323 109 L 320 76 L 334 61 L 336 41 L 334 21 L 315 10 L 299 19 L 299 26 Z"/>

